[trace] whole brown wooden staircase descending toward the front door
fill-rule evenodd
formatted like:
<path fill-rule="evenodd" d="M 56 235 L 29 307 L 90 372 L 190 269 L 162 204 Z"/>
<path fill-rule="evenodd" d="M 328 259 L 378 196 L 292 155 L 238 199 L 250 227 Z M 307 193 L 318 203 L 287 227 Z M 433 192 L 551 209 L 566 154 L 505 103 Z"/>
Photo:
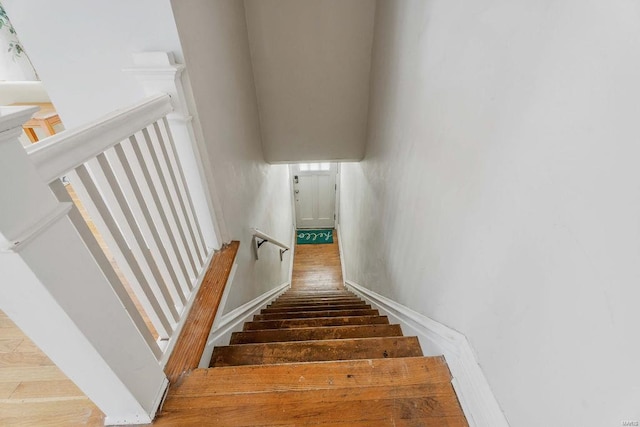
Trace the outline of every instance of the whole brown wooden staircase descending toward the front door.
<path fill-rule="evenodd" d="M 172 387 L 155 424 L 468 425 L 444 358 L 342 286 L 290 289 L 210 366 Z"/>

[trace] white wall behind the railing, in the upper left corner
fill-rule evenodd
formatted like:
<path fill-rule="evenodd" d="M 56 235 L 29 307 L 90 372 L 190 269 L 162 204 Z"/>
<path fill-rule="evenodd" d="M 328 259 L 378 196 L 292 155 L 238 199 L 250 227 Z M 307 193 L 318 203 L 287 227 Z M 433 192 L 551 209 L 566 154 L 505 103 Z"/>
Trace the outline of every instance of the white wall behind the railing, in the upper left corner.
<path fill-rule="evenodd" d="M 182 51 L 169 0 L 3 0 L 67 129 L 144 97 L 131 54 Z"/>

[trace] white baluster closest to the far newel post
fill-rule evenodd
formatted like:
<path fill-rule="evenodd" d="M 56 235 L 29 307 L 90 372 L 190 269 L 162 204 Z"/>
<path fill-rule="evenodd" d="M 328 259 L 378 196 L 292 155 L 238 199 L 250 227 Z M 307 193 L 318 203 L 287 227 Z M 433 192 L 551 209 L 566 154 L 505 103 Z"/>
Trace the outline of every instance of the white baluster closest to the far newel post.
<path fill-rule="evenodd" d="M 189 192 L 186 189 L 186 184 L 184 181 L 184 175 L 182 174 L 180 161 L 177 157 L 175 146 L 173 145 L 174 143 L 173 143 L 173 137 L 171 136 L 171 130 L 167 127 L 164 127 L 164 131 L 165 131 L 164 133 L 166 135 L 165 137 L 163 135 L 163 132 L 160 129 L 159 121 L 153 123 L 153 130 L 155 131 L 156 137 L 158 138 L 158 143 L 160 144 L 162 156 L 164 157 L 164 161 L 167 165 L 167 169 L 169 170 L 169 176 L 171 177 L 173 188 L 175 189 L 176 195 L 178 196 L 178 201 L 180 202 L 180 209 L 182 210 L 184 221 L 187 224 L 187 228 L 189 229 L 189 234 L 191 235 L 191 242 L 193 243 L 193 246 L 196 249 L 196 253 L 198 255 L 198 260 L 200 261 L 200 265 L 202 265 L 204 263 L 203 253 L 205 253 L 204 239 L 202 239 L 202 232 L 200 231 L 200 226 L 198 224 L 198 221 L 192 217 L 194 212 L 193 204 L 191 203 L 191 196 L 189 195 Z M 167 150 L 167 144 L 171 147 L 170 151 Z M 176 178 L 176 169 L 178 171 L 178 176 L 180 179 Z M 185 200 L 186 200 L 186 203 L 189 203 L 189 209 L 187 209 Z M 198 237 L 201 238 L 200 242 L 202 243 L 202 247 L 198 244 L 199 242 L 198 242 L 198 239 L 196 238 L 196 233 L 194 232 L 194 228 L 198 232 Z"/>

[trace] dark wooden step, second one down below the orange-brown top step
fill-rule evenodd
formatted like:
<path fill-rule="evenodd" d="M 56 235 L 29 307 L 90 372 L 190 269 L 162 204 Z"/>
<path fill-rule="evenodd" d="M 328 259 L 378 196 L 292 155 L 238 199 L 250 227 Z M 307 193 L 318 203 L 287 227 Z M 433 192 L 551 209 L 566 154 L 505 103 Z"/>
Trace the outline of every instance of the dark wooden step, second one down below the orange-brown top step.
<path fill-rule="evenodd" d="M 325 326 L 234 332 L 231 344 L 400 336 L 400 325 Z"/>

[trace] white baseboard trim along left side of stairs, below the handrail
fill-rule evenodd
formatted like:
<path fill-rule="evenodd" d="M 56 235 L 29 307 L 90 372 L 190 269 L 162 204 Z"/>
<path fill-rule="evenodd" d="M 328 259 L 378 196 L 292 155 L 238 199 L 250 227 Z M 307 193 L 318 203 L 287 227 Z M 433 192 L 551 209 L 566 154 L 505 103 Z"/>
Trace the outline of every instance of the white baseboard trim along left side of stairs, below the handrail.
<path fill-rule="evenodd" d="M 209 334 L 207 345 L 202 353 L 198 367 L 208 368 L 213 348 L 217 345 L 227 345 L 231 333 L 241 330 L 244 322 L 247 322 L 251 316 L 257 314 L 269 302 L 289 289 L 289 286 L 290 283 L 285 282 L 222 316 L 217 326 Z"/>

